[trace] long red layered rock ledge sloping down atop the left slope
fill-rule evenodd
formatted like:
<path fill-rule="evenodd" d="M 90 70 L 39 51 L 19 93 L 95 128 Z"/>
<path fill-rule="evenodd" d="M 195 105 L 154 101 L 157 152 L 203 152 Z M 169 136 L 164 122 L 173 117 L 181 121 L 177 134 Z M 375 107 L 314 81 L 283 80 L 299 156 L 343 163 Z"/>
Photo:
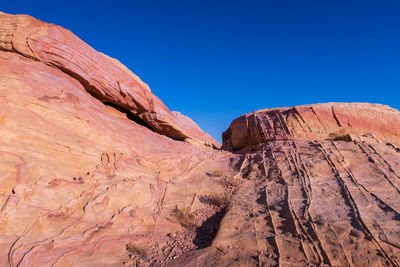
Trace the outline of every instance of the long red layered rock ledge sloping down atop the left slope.
<path fill-rule="evenodd" d="M 97 52 L 60 26 L 26 15 L 0 14 L 0 50 L 58 68 L 101 102 L 129 110 L 158 133 L 219 145 L 192 121 L 174 116 L 148 85 L 119 61 Z"/>

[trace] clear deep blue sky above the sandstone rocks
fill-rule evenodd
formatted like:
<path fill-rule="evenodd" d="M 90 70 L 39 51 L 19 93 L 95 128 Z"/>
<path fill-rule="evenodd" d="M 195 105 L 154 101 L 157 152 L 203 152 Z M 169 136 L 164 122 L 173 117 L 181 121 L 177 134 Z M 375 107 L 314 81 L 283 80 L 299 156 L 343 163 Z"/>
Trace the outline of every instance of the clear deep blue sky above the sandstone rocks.
<path fill-rule="evenodd" d="M 241 114 L 318 102 L 400 108 L 400 1 L 3 1 L 119 59 L 221 140 Z"/>

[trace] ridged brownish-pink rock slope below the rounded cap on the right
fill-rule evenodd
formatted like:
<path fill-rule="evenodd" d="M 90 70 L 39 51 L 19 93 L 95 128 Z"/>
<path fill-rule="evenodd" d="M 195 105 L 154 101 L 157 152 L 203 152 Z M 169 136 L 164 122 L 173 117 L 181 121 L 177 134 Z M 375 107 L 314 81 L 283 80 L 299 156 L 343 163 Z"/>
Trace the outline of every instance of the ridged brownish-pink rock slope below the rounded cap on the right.
<path fill-rule="evenodd" d="M 399 266 L 400 150 L 368 141 L 273 141 L 212 246 L 171 265 Z"/>

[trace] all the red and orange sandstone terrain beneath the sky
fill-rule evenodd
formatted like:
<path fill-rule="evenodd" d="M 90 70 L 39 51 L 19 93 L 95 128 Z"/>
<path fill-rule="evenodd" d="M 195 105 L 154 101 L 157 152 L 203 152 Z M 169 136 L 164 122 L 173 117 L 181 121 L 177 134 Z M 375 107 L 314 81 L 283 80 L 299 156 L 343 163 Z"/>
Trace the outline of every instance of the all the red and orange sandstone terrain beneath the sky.
<path fill-rule="evenodd" d="M 400 112 L 244 115 L 223 149 L 71 32 L 0 14 L 1 266 L 399 266 Z"/>

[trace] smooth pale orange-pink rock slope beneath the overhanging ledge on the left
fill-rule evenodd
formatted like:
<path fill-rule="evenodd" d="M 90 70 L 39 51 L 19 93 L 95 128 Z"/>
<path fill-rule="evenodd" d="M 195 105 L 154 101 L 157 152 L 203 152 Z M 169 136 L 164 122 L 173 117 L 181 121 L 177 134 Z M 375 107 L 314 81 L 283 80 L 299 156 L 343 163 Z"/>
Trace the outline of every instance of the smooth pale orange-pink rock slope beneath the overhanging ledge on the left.
<path fill-rule="evenodd" d="M 217 212 L 198 197 L 224 192 L 207 173 L 229 174 L 229 153 L 160 135 L 85 89 L 0 51 L 0 266 L 134 264 L 132 242 L 167 261 L 200 244 L 171 217 L 176 207 L 198 225 Z"/>

